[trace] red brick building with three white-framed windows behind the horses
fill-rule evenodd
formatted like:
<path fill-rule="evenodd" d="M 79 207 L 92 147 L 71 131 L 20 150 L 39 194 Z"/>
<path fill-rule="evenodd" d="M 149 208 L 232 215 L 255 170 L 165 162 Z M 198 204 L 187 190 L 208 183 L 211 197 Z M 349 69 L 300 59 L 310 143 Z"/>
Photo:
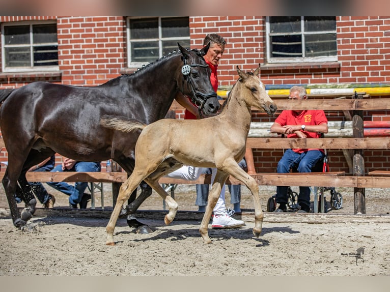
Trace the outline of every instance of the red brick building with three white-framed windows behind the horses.
<path fill-rule="evenodd" d="M 200 48 L 206 34 L 218 33 L 227 40 L 218 68 L 221 94 L 236 81 L 237 65 L 249 70 L 257 64 L 271 97 L 293 84 L 312 92 L 390 94 L 390 17 L 2 16 L 0 24 L 0 89 L 38 80 L 102 84 L 153 62 L 177 42 Z M 329 112 L 329 120 L 340 119 L 342 113 Z M 271 121 L 256 113 L 253 120 Z M 390 116 L 365 112 L 365 120 Z M 258 172 L 275 171 L 282 155 L 262 149 L 254 154 Z M 366 151 L 366 170 L 390 169 L 389 157 L 388 150 Z M 4 150 L 0 159 L 7 160 Z M 349 172 L 342 151 L 330 152 L 330 166 Z"/>

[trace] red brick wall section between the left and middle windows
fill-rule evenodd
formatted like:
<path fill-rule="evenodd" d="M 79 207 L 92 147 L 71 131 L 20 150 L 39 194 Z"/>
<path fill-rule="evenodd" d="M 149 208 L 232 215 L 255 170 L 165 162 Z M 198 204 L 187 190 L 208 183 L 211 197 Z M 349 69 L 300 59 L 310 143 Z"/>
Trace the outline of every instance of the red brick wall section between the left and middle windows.
<path fill-rule="evenodd" d="M 59 17 L 59 62 L 62 82 L 99 85 L 125 67 L 124 17 Z"/>

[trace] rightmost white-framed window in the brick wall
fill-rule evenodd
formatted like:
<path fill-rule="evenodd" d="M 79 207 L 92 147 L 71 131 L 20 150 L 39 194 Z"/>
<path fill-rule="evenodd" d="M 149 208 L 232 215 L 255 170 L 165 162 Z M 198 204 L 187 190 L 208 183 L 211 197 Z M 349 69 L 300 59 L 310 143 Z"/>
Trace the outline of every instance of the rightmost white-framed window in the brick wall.
<path fill-rule="evenodd" d="M 268 63 L 337 61 L 336 17 L 267 17 Z"/>

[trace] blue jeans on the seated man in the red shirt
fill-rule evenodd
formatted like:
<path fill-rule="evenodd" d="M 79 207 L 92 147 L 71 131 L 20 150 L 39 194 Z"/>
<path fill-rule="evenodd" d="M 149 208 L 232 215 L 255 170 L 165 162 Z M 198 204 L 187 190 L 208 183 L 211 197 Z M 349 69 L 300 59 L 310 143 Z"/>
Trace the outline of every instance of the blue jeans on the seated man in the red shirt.
<path fill-rule="evenodd" d="M 282 159 L 277 163 L 277 173 L 290 172 L 291 168 L 298 168 L 298 172 L 312 172 L 316 163 L 324 158 L 324 153 L 319 150 L 310 150 L 303 153 L 296 153 L 291 149 L 286 150 Z M 276 187 L 276 202 L 288 202 L 287 188 L 285 186 Z M 299 187 L 298 203 L 302 207 L 310 207 L 310 188 Z"/>

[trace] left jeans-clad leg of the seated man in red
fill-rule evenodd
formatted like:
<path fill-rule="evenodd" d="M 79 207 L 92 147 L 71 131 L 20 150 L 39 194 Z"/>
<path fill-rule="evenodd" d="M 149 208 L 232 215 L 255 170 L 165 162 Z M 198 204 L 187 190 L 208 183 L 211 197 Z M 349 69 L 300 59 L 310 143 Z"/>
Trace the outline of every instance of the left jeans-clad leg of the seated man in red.
<path fill-rule="evenodd" d="M 277 173 L 288 173 L 290 168 L 299 163 L 300 155 L 291 149 L 287 149 L 281 160 L 277 163 Z M 276 203 L 279 203 L 279 208 L 274 212 L 286 211 L 288 203 L 287 186 L 276 186 Z"/>

